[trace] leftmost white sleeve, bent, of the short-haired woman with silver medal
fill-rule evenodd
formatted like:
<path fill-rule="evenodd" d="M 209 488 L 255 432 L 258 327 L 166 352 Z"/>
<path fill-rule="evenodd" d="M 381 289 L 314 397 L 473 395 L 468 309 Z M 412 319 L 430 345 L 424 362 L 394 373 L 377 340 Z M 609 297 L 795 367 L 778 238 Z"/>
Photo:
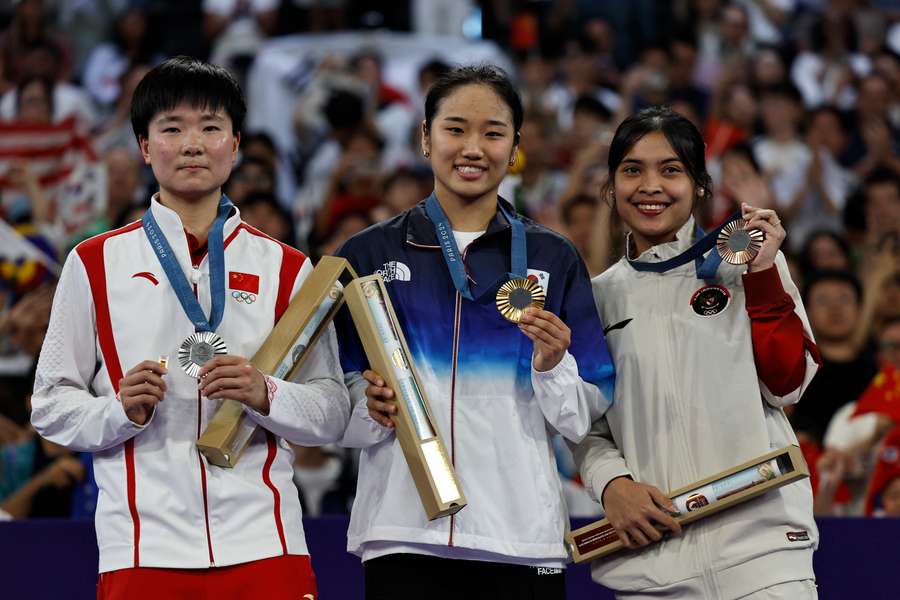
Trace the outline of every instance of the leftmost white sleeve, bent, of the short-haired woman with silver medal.
<path fill-rule="evenodd" d="M 99 365 L 91 290 L 84 264 L 73 251 L 53 297 L 31 397 L 31 423 L 41 436 L 78 452 L 96 452 L 127 441 L 150 424 L 129 420 L 115 396 L 94 395 L 91 383 L 95 373 L 102 376 Z"/>

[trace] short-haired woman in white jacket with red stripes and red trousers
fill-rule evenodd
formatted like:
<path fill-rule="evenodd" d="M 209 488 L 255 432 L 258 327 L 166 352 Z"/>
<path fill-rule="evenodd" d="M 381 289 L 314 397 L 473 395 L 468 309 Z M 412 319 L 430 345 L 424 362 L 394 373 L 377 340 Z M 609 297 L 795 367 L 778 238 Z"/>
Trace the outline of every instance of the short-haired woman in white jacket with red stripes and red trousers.
<path fill-rule="evenodd" d="M 244 112 L 220 67 L 175 58 L 150 71 L 132 122 L 160 191 L 143 223 L 75 248 L 53 300 L 31 419 L 45 438 L 94 454 L 104 600 L 316 593 L 287 442 L 339 439 L 350 404 L 333 328 L 297 382 L 246 358 L 312 265 L 222 195 Z M 198 328 L 228 354 L 189 375 L 179 346 Z M 226 399 L 260 426 L 233 469 L 196 445 Z"/>

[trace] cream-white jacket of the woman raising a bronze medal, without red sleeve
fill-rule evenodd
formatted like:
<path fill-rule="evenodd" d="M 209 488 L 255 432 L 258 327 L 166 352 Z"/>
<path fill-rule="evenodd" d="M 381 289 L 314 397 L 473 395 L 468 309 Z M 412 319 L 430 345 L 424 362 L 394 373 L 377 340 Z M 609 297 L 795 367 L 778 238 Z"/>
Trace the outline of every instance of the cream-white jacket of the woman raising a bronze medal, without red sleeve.
<path fill-rule="evenodd" d="M 672 258 L 691 242 L 693 219 L 675 242 L 639 260 Z M 804 333 L 809 322 L 784 257 L 776 260 L 783 287 Z M 599 499 L 615 477 L 630 475 L 663 492 L 736 466 L 797 439 L 782 406 L 797 402 L 816 372 L 807 352 L 805 379 L 775 397 L 757 378 L 741 275 L 723 263 L 718 280 L 730 300 L 701 316 L 691 306 L 706 286 L 694 263 L 657 274 L 624 258 L 593 280 L 606 342 L 616 365 L 615 401 L 575 448 L 582 478 Z M 621 326 L 627 319 L 630 321 Z M 620 325 L 617 327 L 617 325 Z M 788 532 L 806 532 L 790 541 Z M 813 578 L 818 532 L 808 480 L 697 521 L 681 536 L 592 565 L 593 578 L 622 593 L 677 596 L 680 585 L 703 583 L 708 598 L 738 598 L 785 581 Z M 656 597 L 656 596 L 654 596 Z"/>

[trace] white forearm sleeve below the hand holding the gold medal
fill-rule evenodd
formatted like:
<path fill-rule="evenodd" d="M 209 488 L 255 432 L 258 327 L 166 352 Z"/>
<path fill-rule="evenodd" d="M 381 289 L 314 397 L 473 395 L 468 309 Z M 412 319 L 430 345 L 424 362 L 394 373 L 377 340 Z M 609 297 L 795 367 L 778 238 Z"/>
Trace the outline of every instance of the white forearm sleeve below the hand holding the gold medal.
<path fill-rule="evenodd" d="M 609 408 L 611 399 L 578 375 L 578 364 L 568 350 L 549 371 L 531 368 L 531 387 L 547 423 L 569 441 L 578 443 L 591 423 Z"/>

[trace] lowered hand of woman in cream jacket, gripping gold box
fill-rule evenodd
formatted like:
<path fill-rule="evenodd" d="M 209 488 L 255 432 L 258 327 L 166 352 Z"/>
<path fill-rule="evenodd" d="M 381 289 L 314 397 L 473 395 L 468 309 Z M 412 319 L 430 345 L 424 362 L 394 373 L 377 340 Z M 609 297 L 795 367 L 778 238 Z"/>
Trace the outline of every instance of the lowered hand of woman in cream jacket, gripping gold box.
<path fill-rule="evenodd" d="M 618 477 L 603 490 L 606 518 L 626 548 L 643 548 L 662 539 L 668 530 L 681 533 L 681 525 L 670 513 L 678 509 L 658 488 Z"/>

